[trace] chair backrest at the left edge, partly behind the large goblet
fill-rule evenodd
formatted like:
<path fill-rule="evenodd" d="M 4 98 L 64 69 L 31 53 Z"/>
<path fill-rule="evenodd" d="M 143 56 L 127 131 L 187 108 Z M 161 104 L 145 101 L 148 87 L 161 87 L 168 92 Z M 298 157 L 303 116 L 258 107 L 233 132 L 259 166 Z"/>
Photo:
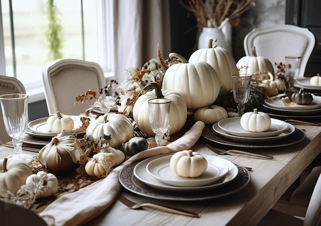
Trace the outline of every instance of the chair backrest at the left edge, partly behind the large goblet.
<path fill-rule="evenodd" d="M 0 95 L 11 93 L 26 93 L 24 85 L 17 78 L 0 75 Z M 5 143 L 12 138 L 5 130 L 2 110 L 0 108 L 0 140 Z"/>

